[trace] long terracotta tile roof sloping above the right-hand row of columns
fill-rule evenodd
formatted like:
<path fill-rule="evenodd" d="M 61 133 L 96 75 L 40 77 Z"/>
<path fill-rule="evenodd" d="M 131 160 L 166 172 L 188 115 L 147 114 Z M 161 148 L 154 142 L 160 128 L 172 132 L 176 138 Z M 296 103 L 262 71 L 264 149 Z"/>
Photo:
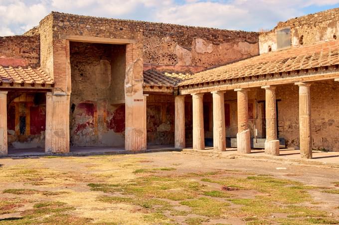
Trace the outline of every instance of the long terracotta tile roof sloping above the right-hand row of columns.
<path fill-rule="evenodd" d="M 266 75 L 339 64 L 339 41 L 270 52 L 215 69 L 196 73 L 178 86 Z"/>

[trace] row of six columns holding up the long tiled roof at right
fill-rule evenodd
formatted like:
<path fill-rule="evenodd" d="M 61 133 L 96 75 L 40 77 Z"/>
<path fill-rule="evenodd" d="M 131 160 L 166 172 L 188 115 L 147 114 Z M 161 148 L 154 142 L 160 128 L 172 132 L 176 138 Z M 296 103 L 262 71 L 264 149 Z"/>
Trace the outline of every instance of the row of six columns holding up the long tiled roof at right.
<path fill-rule="evenodd" d="M 311 107 L 310 84 L 296 83 L 299 86 L 299 127 L 300 153 L 303 158 L 312 158 L 311 139 Z M 265 89 L 266 102 L 266 142 L 265 153 L 279 155 L 279 140 L 277 137 L 276 87 L 262 86 Z M 250 153 L 250 130 L 248 126 L 248 89 L 239 88 L 237 91 L 238 133 L 237 151 Z M 224 92 L 213 91 L 213 148 L 216 151 L 226 150 L 226 128 Z M 193 111 L 193 149 L 203 150 L 203 93 L 192 95 Z M 177 149 L 185 148 L 184 95 L 175 97 L 175 143 Z"/>

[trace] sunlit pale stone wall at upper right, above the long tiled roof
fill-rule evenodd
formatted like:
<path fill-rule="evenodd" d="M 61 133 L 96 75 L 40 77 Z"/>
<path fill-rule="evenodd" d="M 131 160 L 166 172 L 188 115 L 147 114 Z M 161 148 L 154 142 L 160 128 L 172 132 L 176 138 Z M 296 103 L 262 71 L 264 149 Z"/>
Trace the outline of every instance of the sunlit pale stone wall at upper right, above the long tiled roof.
<path fill-rule="evenodd" d="M 339 8 L 279 22 L 273 30 L 260 34 L 260 54 L 269 52 L 269 49 L 277 50 L 276 31 L 285 27 L 291 28 L 292 47 L 336 40 L 339 36 Z"/>

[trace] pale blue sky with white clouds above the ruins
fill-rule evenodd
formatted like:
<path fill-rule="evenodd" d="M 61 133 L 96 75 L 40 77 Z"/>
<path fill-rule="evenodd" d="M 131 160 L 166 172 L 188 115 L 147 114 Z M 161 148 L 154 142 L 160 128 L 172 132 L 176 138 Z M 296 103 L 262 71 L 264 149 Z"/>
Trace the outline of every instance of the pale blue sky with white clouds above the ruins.
<path fill-rule="evenodd" d="M 0 0 L 0 36 L 22 34 L 51 11 L 259 31 L 335 7 L 339 0 Z"/>

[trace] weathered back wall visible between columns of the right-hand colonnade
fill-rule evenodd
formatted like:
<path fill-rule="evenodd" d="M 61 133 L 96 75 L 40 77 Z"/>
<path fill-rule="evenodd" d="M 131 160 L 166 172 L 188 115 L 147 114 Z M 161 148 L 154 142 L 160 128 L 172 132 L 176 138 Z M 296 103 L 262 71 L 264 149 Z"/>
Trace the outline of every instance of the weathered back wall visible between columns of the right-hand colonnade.
<path fill-rule="evenodd" d="M 311 130 L 313 149 L 339 151 L 339 83 L 315 82 L 311 86 Z M 251 137 L 265 138 L 264 111 L 265 90 L 252 88 L 249 91 L 249 127 Z M 279 138 L 284 138 L 288 147 L 299 148 L 299 89 L 297 85 L 278 85 Z M 226 137 L 237 134 L 236 92 L 225 93 L 225 104 L 229 104 L 230 124 L 226 122 Z M 250 106 L 252 104 L 252 106 Z M 225 110 L 227 121 L 227 112 Z"/>

